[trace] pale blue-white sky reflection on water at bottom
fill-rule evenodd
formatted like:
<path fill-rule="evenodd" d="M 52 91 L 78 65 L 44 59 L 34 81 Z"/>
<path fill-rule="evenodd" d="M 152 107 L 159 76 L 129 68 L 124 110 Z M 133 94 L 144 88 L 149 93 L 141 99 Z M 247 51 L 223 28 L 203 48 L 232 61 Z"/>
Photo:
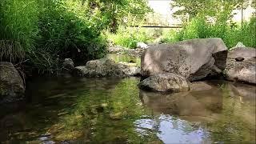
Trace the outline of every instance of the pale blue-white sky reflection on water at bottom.
<path fill-rule="evenodd" d="M 162 114 L 154 119 L 140 119 L 134 122 L 138 133 L 145 135 L 150 131 L 157 133 L 164 143 L 202 143 L 210 142 L 210 133 L 196 124 L 180 118 Z"/>

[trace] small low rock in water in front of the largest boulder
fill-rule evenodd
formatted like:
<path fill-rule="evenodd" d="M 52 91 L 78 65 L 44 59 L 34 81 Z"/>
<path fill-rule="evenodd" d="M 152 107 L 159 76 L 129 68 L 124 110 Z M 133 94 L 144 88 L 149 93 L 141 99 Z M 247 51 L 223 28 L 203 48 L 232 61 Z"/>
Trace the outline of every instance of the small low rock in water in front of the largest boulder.
<path fill-rule="evenodd" d="M 186 79 L 178 74 L 154 74 L 138 84 L 143 90 L 182 92 L 190 90 Z"/>

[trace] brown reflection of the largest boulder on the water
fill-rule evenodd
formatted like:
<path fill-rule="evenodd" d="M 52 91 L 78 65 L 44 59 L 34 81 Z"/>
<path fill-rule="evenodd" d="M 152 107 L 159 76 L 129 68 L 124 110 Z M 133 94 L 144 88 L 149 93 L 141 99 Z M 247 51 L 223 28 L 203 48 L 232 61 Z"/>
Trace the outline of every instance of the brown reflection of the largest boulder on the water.
<path fill-rule="evenodd" d="M 186 118 L 214 118 L 222 110 L 220 90 L 202 90 L 160 94 L 141 90 L 142 102 L 155 114 L 172 114 Z"/>

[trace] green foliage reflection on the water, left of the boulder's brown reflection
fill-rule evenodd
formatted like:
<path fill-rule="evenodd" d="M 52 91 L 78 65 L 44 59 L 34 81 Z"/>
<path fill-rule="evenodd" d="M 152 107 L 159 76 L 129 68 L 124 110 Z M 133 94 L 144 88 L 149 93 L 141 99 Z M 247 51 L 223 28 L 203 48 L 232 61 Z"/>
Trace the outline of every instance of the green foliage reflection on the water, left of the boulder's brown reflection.
<path fill-rule="evenodd" d="M 151 136 L 142 139 L 134 130 L 134 121 L 147 113 L 138 97 L 138 80 L 125 78 L 115 86 L 88 83 L 89 90 L 78 93 L 77 104 L 70 114 L 60 118 L 48 132 L 55 134 L 58 141 L 79 138 L 88 142 L 150 141 Z"/>

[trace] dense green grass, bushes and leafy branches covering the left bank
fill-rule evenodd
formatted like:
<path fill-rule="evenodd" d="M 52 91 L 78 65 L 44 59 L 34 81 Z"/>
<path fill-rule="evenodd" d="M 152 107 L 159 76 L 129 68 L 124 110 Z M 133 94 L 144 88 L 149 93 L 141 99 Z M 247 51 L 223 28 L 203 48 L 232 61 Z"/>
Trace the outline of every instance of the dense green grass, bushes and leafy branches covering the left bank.
<path fill-rule="evenodd" d="M 63 58 L 102 58 L 102 30 L 114 31 L 124 14 L 147 10 L 138 0 L 2 0 L 0 60 L 53 72 Z"/>

